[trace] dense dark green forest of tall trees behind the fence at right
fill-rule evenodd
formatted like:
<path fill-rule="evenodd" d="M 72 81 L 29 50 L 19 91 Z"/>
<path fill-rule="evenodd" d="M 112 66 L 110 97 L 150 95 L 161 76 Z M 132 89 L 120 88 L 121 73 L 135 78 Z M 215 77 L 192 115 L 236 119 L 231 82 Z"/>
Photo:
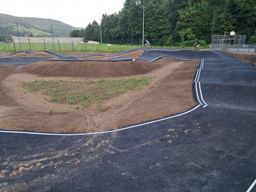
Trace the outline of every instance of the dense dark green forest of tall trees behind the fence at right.
<path fill-rule="evenodd" d="M 212 35 L 235 31 L 256 43 L 256 0 L 125 0 L 121 11 L 103 14 L 85 29 L 75 29 L 70 37 L 84 40 L 121 41 L 133 38 L 169 45 L 195 38 L 210 43 Z M 101 32 L 100 32 L 101 31 Z"/>

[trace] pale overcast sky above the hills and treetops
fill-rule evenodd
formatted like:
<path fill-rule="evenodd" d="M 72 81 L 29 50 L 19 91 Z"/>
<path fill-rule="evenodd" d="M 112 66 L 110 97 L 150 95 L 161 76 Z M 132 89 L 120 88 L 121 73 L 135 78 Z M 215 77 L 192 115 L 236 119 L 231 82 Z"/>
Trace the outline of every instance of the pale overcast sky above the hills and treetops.
<path fill-rule="evenodd" d="M 16 17 L 38 17 L 59 20 L 74 27 L 98 23 L 102 14 L 118 13 L 125 0 L 3 0 L 0 13 Z"/>

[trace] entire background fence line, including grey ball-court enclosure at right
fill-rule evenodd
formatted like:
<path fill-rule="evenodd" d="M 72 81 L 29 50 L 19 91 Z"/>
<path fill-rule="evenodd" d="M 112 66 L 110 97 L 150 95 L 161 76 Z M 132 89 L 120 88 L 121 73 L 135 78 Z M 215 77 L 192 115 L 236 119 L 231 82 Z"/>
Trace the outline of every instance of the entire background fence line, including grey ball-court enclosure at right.
<path fill-rule="evenodd" d="M 215 38 L 215 36 L 217 38 Z M 208 39 L 201 41 L 201 49 L 228 49 L 239 52 L 254 52 L 254 44 L 244 44 L 244 35 L 236 35 L 231 38 L 227 35 L 214 35 L 212 42 Z M 176 40 L 176 39 L 175 39 Z M 173 41 L 175 41 L 173 40 Z M 168 43 L 163 39 L 148 39 L 153 48 L 194 48 L 194 41 Z M 172 42 L 173 42 L 172 41 Z M 236 42 L 236 43 L 235 43 Z M 238 43 L 237 43 L 238 42 Z M 144 44 L 143 44 L 144 43 Z M 213 42 L 214 43 L 214 42 Z M 239 44 L 240 43 L 240 44 Z M 141 39 L 99 39 L 96 41 L 84 41 L 83 38 L 50 38 L 50 37 L 14 37 L 13 43 L 0 43 L 0 51 L 17 52 L 21 50 L 43 51 L 49 49 L 55 52 L 122 52 L 131 48 L 146 47 Z"/>

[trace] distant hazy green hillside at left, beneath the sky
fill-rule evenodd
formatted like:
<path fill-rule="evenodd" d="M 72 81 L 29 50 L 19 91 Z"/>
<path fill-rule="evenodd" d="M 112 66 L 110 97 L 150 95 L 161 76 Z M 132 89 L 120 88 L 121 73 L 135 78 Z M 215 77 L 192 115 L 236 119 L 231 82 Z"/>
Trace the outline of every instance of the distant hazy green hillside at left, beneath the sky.
<path fill-rule="evenodd" d="M 12 36 L 17 36 L 17 27 L 19 36 L 24 37 L 51 37 L 52 33 L 54 37 L 67 37 L 70 31 L 76 29 L 58 20 L 0 14 L 0 41 L 11 40 Z"/>

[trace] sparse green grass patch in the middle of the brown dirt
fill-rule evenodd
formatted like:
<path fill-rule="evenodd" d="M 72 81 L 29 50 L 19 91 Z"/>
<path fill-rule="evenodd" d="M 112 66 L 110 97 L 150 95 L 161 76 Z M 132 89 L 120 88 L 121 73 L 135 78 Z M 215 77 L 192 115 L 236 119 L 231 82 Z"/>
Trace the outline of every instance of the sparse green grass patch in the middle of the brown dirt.
<path fill-rule="evenodd" d="M 154 77 L 156 78 L 156 77 Z M 44 79 L 23 83 L 22 87 L 31 92 L 50 96 L 48 102 L 71 104 L 90 108 L 100 107 L 106 99 L 118 97 L 128 91 L 136 92 L 154 78 L 142 77 L 119 80 L 99 79 L 98 81 L 63 81 Z M 79 109 L 80 107 L 76 107 Z"/>

